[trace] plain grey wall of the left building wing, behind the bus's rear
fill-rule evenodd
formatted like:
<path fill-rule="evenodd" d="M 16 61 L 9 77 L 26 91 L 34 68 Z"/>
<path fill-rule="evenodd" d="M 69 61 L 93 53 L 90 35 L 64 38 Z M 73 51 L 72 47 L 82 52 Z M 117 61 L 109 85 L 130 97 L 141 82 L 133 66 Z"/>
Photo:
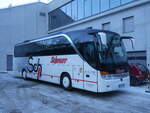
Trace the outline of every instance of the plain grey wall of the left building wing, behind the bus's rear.
<path fill-rule="evenodd" d="M 45 13 L 41 16 L 40 13 Z M 7 69 L 7 55 L 13 55 L 14 45 L 47 34 L 47 8 L 33 3 L 0 10 L 0 71 Z"/>

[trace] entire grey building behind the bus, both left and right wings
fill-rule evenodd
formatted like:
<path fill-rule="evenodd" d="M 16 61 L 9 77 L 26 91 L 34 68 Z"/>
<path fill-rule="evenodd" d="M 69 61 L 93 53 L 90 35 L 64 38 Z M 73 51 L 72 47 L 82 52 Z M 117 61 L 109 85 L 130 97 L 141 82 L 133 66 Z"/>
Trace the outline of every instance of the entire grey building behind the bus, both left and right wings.
<path fill-rule="evenodd" d="M 0 71 L 13 69 L 16 43 L 47 33 L 96 28 L 135 38 L 124 41 L 129 61 L 150 69 L 150 0 L 53 0 L 0 9 Z"/>

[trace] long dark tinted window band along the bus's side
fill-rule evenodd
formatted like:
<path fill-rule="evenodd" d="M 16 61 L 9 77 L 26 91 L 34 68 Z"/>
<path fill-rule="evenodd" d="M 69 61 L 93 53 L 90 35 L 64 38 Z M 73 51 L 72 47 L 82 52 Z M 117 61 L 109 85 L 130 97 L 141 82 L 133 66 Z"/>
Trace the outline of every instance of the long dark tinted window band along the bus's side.
<path fill-rule="evenodd" d="M 16 57 L 65 54 L 76 54 L 76 52 L 64 37 L 52 38 L 15 47 Z"/>

